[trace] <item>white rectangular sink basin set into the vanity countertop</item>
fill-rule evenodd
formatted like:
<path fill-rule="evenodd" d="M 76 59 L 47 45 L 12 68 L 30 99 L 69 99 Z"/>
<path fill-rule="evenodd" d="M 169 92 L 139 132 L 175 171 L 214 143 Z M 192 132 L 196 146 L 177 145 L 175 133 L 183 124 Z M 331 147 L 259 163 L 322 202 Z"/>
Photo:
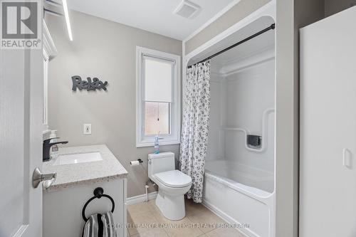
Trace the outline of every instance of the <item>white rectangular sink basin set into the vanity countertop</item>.
<path fill-rule="evenodd" d="M 53 165 L 99 162 L 100 160 L 103 160 L 100 152 L 60 154 Z"/>

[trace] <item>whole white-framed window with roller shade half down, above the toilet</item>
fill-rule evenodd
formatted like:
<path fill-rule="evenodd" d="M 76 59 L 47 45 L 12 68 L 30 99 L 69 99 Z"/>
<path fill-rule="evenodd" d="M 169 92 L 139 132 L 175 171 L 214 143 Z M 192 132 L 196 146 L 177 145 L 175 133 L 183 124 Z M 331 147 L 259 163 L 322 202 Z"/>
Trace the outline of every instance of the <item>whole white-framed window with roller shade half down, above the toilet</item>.
<path fill-rule="evenodd" d="M 179 144 L 180 56 L 137 47 L 136 147 Z"/>

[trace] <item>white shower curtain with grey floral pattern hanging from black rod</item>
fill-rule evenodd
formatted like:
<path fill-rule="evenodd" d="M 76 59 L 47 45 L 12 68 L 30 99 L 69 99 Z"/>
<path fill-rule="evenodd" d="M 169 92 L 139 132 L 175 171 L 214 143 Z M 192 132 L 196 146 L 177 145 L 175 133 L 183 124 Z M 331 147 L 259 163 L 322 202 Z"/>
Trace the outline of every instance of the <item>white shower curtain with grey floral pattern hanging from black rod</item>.
<path fill-rule="evenodd" d="M 179 169 L 192 177 L 188 199 L 200 203 L 209 135 L 210 61 L 188 68 L 186 79 Z"/>

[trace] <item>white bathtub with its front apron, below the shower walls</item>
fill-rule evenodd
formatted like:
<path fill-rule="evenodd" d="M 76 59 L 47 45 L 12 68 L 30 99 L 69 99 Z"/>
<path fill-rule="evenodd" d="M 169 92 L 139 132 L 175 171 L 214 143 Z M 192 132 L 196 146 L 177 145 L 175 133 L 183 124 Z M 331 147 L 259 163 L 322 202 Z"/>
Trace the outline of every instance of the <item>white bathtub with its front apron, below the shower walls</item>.
<path fill-rule="evenodd" d="M 273 173 L 228 160 L 206 161 L 203 204 L 246 236 L 275 235 Z"/>

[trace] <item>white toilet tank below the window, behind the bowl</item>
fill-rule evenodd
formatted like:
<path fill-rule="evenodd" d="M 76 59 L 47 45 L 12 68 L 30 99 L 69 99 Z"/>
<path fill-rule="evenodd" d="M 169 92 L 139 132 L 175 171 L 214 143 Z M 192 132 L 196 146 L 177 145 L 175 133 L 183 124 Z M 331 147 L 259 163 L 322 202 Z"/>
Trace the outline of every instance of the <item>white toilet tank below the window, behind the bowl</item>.
<path fill-rule="evenodd" d="M 159 172 L 174 170 L 174 153 L 162 152 L 159 154 L 148 154 L 148 177 Z"/>

